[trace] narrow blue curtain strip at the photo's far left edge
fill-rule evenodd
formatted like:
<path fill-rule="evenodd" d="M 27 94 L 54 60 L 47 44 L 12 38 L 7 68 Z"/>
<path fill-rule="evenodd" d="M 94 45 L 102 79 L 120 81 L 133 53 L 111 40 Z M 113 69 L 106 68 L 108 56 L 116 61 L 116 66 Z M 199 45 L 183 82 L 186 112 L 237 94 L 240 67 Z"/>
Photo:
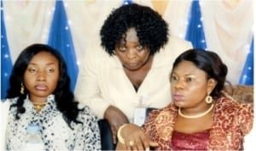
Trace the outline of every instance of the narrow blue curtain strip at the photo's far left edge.
<path fill-rule="evenodd" d="M 6 97 L 12 68 L 13 65 L 3 18 L 3 2 L 1 1 L 1 99 Z"/>

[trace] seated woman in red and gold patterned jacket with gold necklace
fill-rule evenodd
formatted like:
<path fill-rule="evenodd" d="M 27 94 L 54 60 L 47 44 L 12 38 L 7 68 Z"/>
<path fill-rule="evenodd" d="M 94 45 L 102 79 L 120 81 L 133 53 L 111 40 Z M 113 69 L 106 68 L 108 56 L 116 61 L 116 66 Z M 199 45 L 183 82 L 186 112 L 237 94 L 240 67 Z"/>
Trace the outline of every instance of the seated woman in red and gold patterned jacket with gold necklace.
<path fill-rule="evenodd" d="M 153 110 L 142 128 L 121 126 L 117 149 L 242 150 L 253 109 L 222 92 L 227 72 L 216 53 L 182 53 L 170 76 L 172 103 Z"/>

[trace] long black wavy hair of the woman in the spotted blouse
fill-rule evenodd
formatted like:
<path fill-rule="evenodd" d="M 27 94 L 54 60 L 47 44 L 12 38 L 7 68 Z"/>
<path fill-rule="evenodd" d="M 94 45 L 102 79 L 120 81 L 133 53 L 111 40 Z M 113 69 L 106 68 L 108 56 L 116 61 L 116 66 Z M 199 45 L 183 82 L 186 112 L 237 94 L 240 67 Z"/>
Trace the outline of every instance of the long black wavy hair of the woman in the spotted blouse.
<path fill-rule="evenodd" d="M 55 103 L 57 109 L 61 111 L 64 119 L 67 121 L 68 126 L 70 126 L 71 121 L 78 123 L 79 121 L 76 120 L 79 115 L 78 102 L 74 100 L 73 92 L 70 90 L 70 78 L 67 75 L 65 60 L 62 58 L 61 53 L 45 44 L 32 44 L 25 48 L 15 61 L 14 68 L 9 78 L 10 87 L 6 98 L 18 97 L 17 103 L 12 106 L 17 108 L 16 119 L 20 119 L 19 114 L 26 112 L 26 109 L 23 107 L 24 100 L 29 93 L 26 87 L 24 94 L 20 94 L 20 85 L 23 82 L 26 68 L 32 58 L 40 52 L 51 53 L 58 60 L 60 75 L 57 81 L 57 87 L 54 91 Z"/>

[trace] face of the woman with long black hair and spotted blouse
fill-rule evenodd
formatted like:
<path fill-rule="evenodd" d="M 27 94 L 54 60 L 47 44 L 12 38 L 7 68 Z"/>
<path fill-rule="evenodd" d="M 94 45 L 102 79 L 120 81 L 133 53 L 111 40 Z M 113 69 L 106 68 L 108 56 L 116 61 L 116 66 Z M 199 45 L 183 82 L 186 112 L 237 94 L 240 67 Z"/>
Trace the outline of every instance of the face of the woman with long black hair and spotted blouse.
<path fill-rule="evenodd" d="M 57 87 L 59 62 L 47 52 L 36 54 L 28 64 L 24 74 L 24 84 L 32 101 L 46 100 Z"/>

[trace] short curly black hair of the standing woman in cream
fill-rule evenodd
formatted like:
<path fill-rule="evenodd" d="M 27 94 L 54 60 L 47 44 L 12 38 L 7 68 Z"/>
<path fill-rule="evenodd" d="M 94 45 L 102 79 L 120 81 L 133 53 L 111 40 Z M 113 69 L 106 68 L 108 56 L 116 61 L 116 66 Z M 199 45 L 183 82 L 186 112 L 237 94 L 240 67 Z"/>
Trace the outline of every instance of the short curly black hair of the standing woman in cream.
<path fill-rule="evenodd" d="M 130 3 L 113 10 L 105 20 L 100 31 L 102 47 L 113 55 L 125 32 L 134 27 L 139 42 L 154 54 L 168 42 L 168 25 L 165 20 L 147 6 Z"/>

